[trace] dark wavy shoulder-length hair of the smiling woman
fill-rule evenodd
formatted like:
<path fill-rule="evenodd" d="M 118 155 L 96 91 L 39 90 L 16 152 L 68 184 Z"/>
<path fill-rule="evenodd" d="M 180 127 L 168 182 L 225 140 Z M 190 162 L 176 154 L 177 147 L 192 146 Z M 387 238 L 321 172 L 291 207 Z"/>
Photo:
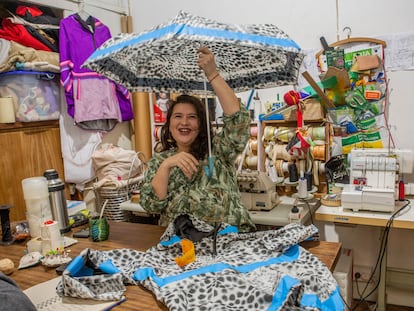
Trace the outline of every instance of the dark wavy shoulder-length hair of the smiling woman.
<path fill-rule="evenodd" d="M 208 135 L 207 135 L 207 116 L 206 107 L 200 99 L 191 95 L 180 95 L 175 100 L 170 101 L 170 105 L 167 112 L 167 121 L 165 122 L 161 132 L 161 151 L 170 150 L 177 147 L 177 144 L 170 133 L 170 119 L 175 105 L 177 104 L 191 104 L 196 110 L 198 119 L 200 120 L 200 128 L 198 136 L 191 145 L 191 154 L 194 155 L 198 160 L 202 160 L 208 153 Z M 210 137 L 211 134 L 210 126 Z"/>

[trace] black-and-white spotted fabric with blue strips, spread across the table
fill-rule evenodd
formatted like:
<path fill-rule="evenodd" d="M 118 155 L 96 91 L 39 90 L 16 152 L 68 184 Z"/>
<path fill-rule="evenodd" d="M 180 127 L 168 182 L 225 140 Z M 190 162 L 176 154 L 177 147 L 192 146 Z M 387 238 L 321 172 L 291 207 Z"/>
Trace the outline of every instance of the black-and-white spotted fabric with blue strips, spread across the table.
<path fill-rule="evenodd" d="M 198 230 L 212 226 L 192 217 Z M 181 243 L 171 224 L 146 252 L 90 251 L 97 266 L 109 261 L 126 284 L 151 290 L 169 310 L 343 310 L 329 269 L 298 245 L 317 234 L 313 225 L 237 233 L 225 225 L 212 256 L 212 238 L 195 243 L 196 261 L 179 268 Z"/>

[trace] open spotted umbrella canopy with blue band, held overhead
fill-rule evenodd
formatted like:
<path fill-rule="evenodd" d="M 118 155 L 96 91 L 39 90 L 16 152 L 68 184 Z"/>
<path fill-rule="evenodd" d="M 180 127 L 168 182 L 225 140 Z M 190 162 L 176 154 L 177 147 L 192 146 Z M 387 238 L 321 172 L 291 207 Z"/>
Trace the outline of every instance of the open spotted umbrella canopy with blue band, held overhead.
<path fill-rule="evenodd" d="M 140 34 L 105 42 L 84 66 L 131 92 L 211 92 L 197 65 L 197 49 L 215 55 L 221 76 L 238 93 L 296 84 L 303 54 L 271 24 L 232 25 L 186 12 Z"/>

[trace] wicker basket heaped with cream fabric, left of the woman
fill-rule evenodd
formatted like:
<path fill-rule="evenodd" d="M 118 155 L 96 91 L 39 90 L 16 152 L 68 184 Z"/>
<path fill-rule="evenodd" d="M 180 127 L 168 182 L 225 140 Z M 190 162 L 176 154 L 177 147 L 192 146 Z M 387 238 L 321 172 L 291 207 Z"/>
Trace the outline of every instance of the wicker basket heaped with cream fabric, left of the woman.
<path fill-rule="evenodd" d="M 130 213 L 119 206 L 140 189 L 146 170 L 144 155 L 112 144 L 102 144 L 93 152 L 92 163 L 97 178 L 93 188 L 98 212 L 107 202 L 103 213 L 106 219 L 128 221 Z"/>

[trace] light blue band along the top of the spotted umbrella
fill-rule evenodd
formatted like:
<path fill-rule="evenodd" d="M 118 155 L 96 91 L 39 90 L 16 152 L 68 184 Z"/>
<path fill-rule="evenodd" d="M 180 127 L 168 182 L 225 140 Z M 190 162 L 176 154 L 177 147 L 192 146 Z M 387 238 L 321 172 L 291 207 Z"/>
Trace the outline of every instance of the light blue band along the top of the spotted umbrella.
<path fill-rule="evenodd" d="M 280 46 L 283 48 L 295 48 L 300 50 L 300 47 L 296 44 L 295 41 L 288 38 L 274 38 L 263 35 L 256 34 L 247 34 L 237 31 L 221 30 L 221 29 L 207 29 L 201 27 L 193 27 L 185 24 L 171 24 L 163 28 L 159 28 L 147 33 L 138 35 L 129 40 L 122 41 L 113 45 L 110 45 L 106 48 L 99 48 L 94 51 L 92 55 L 88 58 L 87 61 L 91 61 L 100 56 L 104 56 L 108 53 L 114 53 L 118 50 L 123 49 L 124 47 L 140 44 L 145 41 L 153 39 L 161 39 L 166 35 L 197 35 L 197 36 L 207 36 L 215 39 L 225 39 L 225 40 L 241 40 L 241 41 L 250 41 L 253 43 L 258 43 L 262 45 L 269 46 Z M 201 38 L 200 38 L 201 40 Z"/>

